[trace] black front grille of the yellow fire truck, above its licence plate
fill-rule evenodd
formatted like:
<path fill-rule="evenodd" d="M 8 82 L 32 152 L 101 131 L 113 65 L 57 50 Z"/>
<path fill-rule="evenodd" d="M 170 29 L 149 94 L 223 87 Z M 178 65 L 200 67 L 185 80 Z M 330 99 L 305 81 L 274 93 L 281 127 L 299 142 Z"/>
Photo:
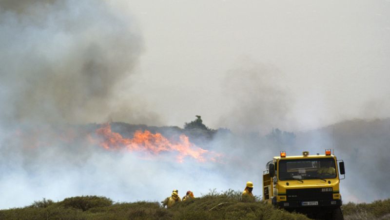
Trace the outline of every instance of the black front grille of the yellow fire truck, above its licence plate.
<path fill-rule="evenodd" d="M 327 189 L 327 190 L 324 190 Z M 331 188 L 312 189 L 288 189 L 286 190 L 287 200 L 331 200 L 333 192 Z"/>

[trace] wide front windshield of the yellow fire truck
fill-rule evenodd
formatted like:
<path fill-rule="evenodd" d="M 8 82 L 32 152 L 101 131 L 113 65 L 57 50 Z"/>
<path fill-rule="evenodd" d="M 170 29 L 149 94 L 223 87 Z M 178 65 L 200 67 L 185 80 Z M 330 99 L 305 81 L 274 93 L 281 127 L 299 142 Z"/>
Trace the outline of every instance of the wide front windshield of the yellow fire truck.
<path fill-rule="evenodd" d="M 332 158 L 279 161 L 279 180 L 309 180 L 336 178 Z"/>

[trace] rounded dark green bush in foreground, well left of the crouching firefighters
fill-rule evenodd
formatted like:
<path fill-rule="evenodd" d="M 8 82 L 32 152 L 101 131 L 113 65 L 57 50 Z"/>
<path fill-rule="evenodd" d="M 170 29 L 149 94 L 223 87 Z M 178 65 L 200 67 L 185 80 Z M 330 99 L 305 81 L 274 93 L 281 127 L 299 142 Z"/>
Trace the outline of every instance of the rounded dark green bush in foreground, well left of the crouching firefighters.
<path fill-rule="evenodd" d="M 66 198 L 61 202 L 65 207 L 72 207 L 81 209 L 82 211 L 87 211 L 90 208 L 96 207 L 106 207 L 113 204 L 111 199 L 98 196 L 78 196 Z"/>

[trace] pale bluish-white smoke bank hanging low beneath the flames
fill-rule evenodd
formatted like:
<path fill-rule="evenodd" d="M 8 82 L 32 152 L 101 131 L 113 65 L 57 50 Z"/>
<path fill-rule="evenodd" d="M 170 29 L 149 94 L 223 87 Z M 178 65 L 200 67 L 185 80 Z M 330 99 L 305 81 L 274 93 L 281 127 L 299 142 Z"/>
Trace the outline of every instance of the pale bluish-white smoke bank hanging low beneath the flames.
<path fill-rule="evenodd" d="M 89 137 L 98 135 L 94 131 L 99 127 L 41 126 L 8 134 L 0 145 L 0 208 L 81 195 L 158 201 L 173 188 L 179 189 L 179 195 L 191 189 L 200 196 L 211 188 L 231 185 L 215 169 L 217 162 L 201 162 L 191 156 L 177 162 L 180 155 L 175 151 L 146 155 L 91 143 Z M 125 135 L 130 132 L 116 129 Z"/>

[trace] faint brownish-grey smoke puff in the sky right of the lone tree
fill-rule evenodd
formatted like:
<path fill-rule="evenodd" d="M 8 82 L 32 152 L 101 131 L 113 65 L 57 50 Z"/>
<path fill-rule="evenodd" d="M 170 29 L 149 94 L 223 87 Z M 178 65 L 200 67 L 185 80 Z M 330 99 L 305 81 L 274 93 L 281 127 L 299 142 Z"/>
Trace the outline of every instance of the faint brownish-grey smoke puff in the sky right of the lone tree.
<path fill-rule="evenodd" d="M 222 87 L 230 106 L 218 124 L 236 132 L 268 133 L 275 125 L 289 126 L 293 99 L 287 94 L 284 74 L 271 64 L 244 60 L 230 70 Z"/>

